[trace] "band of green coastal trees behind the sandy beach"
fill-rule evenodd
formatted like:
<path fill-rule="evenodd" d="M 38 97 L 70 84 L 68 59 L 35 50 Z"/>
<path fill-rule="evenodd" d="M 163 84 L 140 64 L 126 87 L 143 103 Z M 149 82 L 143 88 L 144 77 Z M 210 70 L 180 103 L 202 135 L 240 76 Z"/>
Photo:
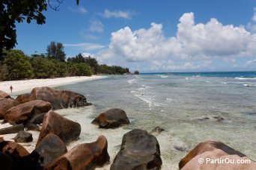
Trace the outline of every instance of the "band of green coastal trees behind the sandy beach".
<path fill-rule="evenodd" d="M 66 60 L 61 42 L 50 42 L 46 51 L 46 54 L 28 56 L 21 50 L 4 49 L 0 61 L 0 81 L 129 73 L 128 68 L 99 64 L 96 58 L 84 57 L 81 53 Z"/>

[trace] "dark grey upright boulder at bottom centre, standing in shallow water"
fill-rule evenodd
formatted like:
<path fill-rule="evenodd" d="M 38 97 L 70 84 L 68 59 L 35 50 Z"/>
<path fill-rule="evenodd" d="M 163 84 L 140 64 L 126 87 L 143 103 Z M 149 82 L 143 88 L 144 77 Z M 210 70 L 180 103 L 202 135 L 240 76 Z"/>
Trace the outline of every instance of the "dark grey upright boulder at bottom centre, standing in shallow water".
<path fill-rule="evenodd" d="M 145 130 L 131 130 L 124 134 L 121 149 L 112 163 L 111 170 L 161 169 L 159 143 Z"/>

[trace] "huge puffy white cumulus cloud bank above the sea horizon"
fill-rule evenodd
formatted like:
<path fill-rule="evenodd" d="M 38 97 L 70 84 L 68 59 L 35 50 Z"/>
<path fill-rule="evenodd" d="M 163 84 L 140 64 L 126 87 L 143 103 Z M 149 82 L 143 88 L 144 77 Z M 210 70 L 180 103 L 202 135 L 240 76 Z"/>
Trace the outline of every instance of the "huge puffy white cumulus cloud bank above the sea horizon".
<path fill-rule="evenodd" d="M 222 25 L 214 18 L 205 24 L 196 24 L 194 13 L 184 13 L 175 37 L 165 37 L 162 24 L 154 22 L 147 29 L 132 31 L 125 27 L 112 33 L 109 47 L 100 51 L 97 57 L 108 62 L 185 60 L 176 66 L 177 62 L 161 66 L 166 69 L 201 69 L 204 66 L 200 67 L 196 60 L 234 63 L 235 57 L 252 57 L 256 54 L 255 40 L 256 34 L 246 31 L 243 26 Z M 156 68 L 154 63 L 150 66 Z"/>

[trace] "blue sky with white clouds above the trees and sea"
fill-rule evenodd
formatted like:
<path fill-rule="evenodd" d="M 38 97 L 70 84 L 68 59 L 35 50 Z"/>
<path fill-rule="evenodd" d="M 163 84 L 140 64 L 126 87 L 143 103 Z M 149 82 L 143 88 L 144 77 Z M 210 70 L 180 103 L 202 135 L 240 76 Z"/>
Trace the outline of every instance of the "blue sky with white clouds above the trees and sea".
<path fill-rule="evenodd" d="M 55 41 L 67 57 L 130 71 L 256 70 L 255 0 L 64 0 L 43 14 L 44 25 L 16 24 L 25 54 L 46 53 Z"/>

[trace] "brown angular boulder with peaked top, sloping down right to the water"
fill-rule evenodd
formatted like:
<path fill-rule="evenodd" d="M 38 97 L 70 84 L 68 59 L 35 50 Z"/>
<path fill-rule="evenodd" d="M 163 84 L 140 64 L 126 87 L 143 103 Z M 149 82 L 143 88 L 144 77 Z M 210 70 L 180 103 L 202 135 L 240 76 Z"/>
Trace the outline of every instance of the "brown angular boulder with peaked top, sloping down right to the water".
<path fill-rule="evenodd" d="M 43 118 L 43 125 L 38 136 L 37 145 L 49 133 L 57 135 L 64 142 L 70 142 L 79 137 L 81 126 L 79 123 L 66 119 L 50 110 Z"/>

